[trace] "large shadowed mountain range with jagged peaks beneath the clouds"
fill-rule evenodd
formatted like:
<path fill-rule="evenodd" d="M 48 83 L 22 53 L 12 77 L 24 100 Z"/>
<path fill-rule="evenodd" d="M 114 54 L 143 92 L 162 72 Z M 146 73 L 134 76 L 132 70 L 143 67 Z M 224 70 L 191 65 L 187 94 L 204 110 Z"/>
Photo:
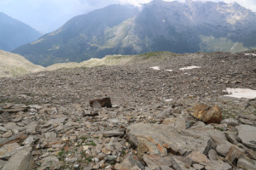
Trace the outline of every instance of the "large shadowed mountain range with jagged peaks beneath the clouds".
<path fill-rule="evenodd" d="M 238 3 L 111 5 L 69 20 L 14 50 L 39 65 L 151 51 L 239 52 L 256 48 L 256 14 Z"/>

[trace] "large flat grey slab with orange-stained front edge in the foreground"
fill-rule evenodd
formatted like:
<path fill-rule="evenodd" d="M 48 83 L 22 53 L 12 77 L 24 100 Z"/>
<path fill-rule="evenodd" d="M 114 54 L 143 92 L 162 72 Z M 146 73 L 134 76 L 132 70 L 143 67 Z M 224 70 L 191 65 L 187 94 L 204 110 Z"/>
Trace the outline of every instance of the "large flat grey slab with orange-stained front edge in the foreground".
<path fill-rule="evenodd" d="M 126 133 L 139 153 L 155 156 L 166 156 L 168 152 L 187 156 L 195 150 L 206 155 L 212 144 L 207 136 L 163 124 L 137 123 L 127 127 Z"/>

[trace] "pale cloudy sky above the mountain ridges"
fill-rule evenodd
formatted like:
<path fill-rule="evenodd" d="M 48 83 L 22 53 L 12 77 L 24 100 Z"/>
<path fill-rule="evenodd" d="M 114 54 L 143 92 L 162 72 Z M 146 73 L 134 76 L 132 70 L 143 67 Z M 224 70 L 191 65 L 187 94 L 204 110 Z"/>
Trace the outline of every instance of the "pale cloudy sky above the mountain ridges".
<path fill-rule="evenodd" d="M 113 3 L 149 3 L 151 0 L 0 0 L 0 12 L 20 20 L 29 26 L 46 33 L 54 31 L 67 20 L 85 14 L 96 8 Z M 173 0 L 166 0 L 173 1 Z M 185 0 L 177 0 L 184 2 Z M 206 1 L 206 0 L 200 0 Z M 240 3 L 256 12 L 256 0 L 210 0 L 212 2 Z"/>

